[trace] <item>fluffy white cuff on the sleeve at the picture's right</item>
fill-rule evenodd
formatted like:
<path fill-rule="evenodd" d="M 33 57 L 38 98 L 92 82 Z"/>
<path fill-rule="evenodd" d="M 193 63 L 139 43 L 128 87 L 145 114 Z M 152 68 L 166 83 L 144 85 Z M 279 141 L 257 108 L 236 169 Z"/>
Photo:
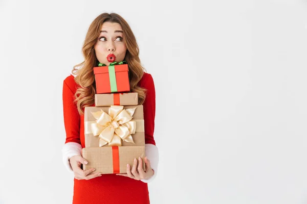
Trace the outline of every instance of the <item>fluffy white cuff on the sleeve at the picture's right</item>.
<path fill-rule="evenodd" d="M 153 144 L 145 144 L 145 156 L 150 162 L 151 169 L 155 172 L 150 179 L 142 179 L 144 183 L 152 182 L 158 173 L 159 151 L 158 147 Z"/>

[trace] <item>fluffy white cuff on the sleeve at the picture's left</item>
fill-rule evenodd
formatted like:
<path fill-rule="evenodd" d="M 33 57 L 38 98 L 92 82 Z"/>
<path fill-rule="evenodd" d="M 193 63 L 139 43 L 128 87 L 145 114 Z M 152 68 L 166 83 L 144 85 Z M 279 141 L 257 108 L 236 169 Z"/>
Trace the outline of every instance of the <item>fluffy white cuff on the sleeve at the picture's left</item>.
<path fill-rule="evenodd" d="M 76 155 L 81 155 L 81 144 L 76 142 L 68 142 L 62 147 L 62 157 L 64 166 L 71 173 L 74 173 L 72 166 L 70 165 L 69 159 Z"/>

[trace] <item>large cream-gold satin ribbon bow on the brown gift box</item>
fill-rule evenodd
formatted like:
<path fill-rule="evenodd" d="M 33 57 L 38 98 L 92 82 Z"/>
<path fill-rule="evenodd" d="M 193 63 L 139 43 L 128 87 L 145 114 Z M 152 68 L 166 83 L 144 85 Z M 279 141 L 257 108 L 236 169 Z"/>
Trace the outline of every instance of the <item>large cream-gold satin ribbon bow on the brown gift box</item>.
<path fill-rule="evenodd" d="M 99 146 L 121 146 L 122 141 L 134 143 L 131 134 L 136 133 L 136 121 L 131 121 L 137 107 L 123 109 L 123 106 L 111 106 L 108 114 L 103 110 L 92 112 L 96 121 L 91 123 L 91 132 L 99 135 Z M 135 144 L 135 143 L 134 143 Z"/>

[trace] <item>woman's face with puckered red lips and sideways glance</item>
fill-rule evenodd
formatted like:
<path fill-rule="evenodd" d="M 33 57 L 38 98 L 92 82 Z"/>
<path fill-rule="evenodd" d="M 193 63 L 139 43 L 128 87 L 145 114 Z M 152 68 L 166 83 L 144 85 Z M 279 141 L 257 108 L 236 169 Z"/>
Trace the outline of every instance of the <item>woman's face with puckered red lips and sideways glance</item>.
<path fill-rule="evenodd" d="M 104 22 L 94 48 L 100 63 L 108 66 L 114 61 L 123 61 L 127 47 L 121 25 L 116 22 Z"/>

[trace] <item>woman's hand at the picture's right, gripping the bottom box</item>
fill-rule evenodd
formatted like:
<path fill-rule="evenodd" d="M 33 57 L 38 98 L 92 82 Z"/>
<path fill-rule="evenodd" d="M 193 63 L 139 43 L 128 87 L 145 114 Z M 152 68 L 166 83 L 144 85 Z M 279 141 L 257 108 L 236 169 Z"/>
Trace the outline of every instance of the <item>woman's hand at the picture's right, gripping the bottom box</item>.
<path fill-rule="evenodd" d="M 153 175 L 153 170 L 150 167 L 150 162 L 147 159 L 147 157 L 145 157 L 144 161 L 145 161 L 145 167 L 146 167 L 145 171 L 143 170 L 143 161 L 139 157 L 138 168 L 137 168 L 138 161 L 137 159 L 134 159 L 133 167 L 131 170 L 130 170 L 130 165 L 127 164 L 127 173 L 117 173 L 116 175 L 127 176 L 127 177 L 130 177 L 131 179 L 135 179 L 138 181 L 141 179 L 150 179 L 150 177 Z"/>

